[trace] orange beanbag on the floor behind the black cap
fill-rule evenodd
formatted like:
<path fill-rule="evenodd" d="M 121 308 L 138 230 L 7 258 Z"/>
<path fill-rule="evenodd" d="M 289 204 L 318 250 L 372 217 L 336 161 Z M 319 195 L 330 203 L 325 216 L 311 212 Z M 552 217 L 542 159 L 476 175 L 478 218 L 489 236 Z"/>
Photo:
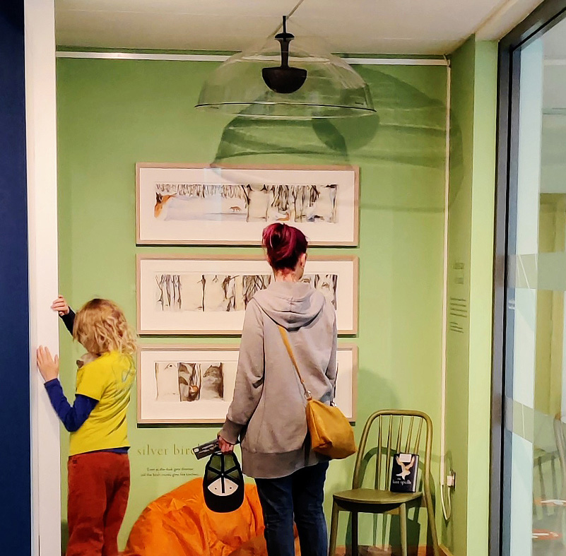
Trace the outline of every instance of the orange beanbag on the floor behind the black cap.
<path fill-rule="evenodd" d="M 141 512 L 123 556 L 229 556 L 252 539 L 259 537 L 261 545 L 263 531 L 254 485 L 246 485 L 240 509 L 216 514 L 204 504 L 199 478 L 159 497 Z"/>

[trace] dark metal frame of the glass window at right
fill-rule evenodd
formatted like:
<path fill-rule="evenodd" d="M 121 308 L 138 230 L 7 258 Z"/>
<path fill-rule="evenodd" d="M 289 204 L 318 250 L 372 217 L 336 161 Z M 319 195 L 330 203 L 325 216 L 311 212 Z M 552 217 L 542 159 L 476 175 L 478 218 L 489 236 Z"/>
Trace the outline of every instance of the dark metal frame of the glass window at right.
<path fill-rule="evenodd" d="M 521 48 L 531 44 L 566 18 L 566 0 L 545 0 L 500 40 L 497 66 L 497 167 L 493 261 L 493 362 L 490 447 L 489 556 L 504 556 L 504 512 L 509 507 L 510 464 L 505 451 L 505 376 L 507 319 L 506 261 L 509 241 L 509 199 L 517 196 L 519 80 Z"/>

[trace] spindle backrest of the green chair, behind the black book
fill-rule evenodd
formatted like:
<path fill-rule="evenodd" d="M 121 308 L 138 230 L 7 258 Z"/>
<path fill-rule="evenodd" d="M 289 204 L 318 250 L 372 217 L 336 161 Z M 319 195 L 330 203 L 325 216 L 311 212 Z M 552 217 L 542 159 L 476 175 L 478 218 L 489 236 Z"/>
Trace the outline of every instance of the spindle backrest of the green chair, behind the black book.
<path fill-rule="evenodd" d="M 371 439 L 369 449 L 367 449 L 368 439 Z M 419 454 L 419 467 L 422 468 L 420 478 L 423 480 L 425 490 L 429 491 L 431 451 L 432 421 L 426 413 L 401 409 L 376 411 L 367 419 L 362 432 L 352 487 L 362 487 L 362 481 L 375 456 L 375 476 L 372 486 L 377 490 L 389 490 L 393 456 L 404 452 Z M 419 484 L 418 480 L 417 478 L 417 484 Z"/>

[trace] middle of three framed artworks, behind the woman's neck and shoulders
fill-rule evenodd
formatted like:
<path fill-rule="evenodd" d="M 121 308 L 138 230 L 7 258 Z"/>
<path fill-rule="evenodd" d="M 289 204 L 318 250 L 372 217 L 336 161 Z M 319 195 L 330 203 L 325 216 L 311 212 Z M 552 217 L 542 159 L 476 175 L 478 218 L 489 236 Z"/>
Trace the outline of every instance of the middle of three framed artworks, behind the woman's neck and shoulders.
<path fill-rule="evenodd" d="M 139 334 L 240 334 L 247 303 L 273 273 L 263 256 L 138 255 Z M 336 307 L 338 333 L 358 329 L 358 257 L 309 257 L 303 281 Z"/>

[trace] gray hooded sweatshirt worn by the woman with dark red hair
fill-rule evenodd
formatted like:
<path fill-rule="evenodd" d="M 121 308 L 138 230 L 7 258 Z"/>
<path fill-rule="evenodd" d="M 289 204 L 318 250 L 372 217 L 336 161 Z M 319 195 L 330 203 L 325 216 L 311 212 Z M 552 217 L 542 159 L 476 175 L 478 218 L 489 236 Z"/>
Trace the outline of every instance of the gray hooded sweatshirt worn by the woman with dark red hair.
<path fill-rule="evenodd" d="M 240 437 L 242 471 L 253 478 L 285 477 L 327 461 L 310 449 L 307 401 L 278 325 L 313 398 L 334 398 L 334 307 L 309 284 L 272 282 L 247 305 L 234 398 L 220 431 L 232 444 Z"/>

